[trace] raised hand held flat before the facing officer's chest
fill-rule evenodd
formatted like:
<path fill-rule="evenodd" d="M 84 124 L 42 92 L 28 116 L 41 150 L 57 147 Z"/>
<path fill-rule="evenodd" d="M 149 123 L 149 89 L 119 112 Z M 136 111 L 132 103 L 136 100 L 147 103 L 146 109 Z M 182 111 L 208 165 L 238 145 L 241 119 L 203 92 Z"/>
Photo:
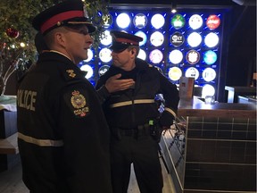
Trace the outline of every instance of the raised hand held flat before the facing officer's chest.
<path fill-rule="evenodd" d="M 109 93 L 128 89 L 135 84 L 135 81 L 132 79 L 119 80 L 120 77 L 121 77 L 121 74 L 119 73 L 119 74 L 116 74 L 116 75 L 110 77 L 106 81 L 105 88 L 107 88 Z"/>

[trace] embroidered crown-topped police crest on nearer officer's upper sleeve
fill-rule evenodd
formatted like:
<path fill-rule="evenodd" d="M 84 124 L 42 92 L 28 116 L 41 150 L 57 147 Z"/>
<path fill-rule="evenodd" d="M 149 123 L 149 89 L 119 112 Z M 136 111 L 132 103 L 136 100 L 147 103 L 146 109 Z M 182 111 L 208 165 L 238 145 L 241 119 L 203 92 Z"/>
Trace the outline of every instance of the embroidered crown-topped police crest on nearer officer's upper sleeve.
<path fill-rule="evenodd" d="M 74 114 L 80 117 L 86 116 L 89 112 L 89 107 L 86 106 L 87 102 L 85 96 L 81 95 L 78 90 L 74 90 L 71 95 L 70 102 L 75 108 Z"/>

